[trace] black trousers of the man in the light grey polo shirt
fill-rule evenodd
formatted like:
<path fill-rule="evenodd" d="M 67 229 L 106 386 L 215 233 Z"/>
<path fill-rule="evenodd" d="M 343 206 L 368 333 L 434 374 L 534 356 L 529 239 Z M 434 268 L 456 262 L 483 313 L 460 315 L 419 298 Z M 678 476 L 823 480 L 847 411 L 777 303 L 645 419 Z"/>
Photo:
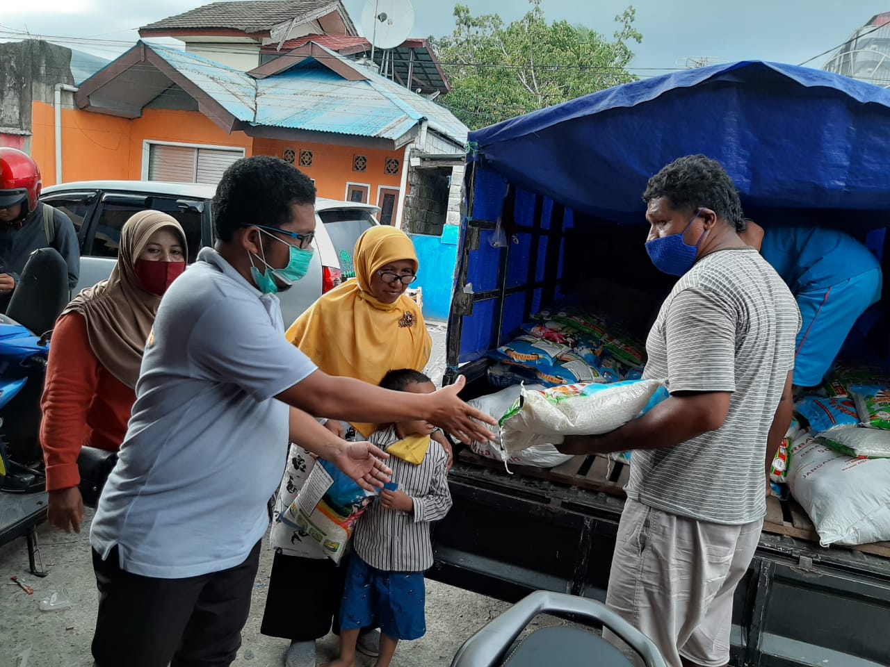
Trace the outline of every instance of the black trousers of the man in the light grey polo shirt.
<path fill-rule="evenodd" d="M 260 562 L 260 542 L 239 566 L 187 579 L 133 575 L 118 566 L 117 547 L 93 550 L 99 617 L 95 667 L 228 667 Z"/>

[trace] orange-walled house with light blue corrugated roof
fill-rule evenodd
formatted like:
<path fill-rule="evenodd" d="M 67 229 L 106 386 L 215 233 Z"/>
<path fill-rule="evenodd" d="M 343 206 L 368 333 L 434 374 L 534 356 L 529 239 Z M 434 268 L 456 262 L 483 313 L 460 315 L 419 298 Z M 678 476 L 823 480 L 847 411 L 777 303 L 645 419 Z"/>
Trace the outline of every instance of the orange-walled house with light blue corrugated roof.
<path fill-rule="evenodd" d="M 410 157 L 462 153 L 467 132 L 446 108 L 315 42 L 248 72 L 139 42 L 69 95 L 61 174 L 53 106 L 34 101 L 45 184 L 212 183 L 239 157 L 273 155 L 320 197 L 379 205 L 387 223 L 401 221 Z"/>

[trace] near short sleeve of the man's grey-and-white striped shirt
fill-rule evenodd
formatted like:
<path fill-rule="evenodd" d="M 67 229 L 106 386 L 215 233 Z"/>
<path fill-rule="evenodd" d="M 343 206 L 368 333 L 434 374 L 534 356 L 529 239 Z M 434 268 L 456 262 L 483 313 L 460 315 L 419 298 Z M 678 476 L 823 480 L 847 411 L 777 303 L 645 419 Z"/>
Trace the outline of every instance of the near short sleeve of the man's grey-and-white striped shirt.
<path fill-rule="evenodd" d="M 721 295 L 684 289 L 665 317 L 667 388 L 676 391 L 735 391 L 737 314 Z"/>

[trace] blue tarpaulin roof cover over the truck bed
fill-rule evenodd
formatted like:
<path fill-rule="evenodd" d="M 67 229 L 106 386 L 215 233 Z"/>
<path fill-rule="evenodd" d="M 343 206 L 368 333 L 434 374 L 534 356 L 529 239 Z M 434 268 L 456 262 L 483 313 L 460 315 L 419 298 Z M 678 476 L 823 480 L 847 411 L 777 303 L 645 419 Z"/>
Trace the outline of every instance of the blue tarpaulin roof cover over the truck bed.
<path fill-rule="evenodd" d="M 676 157 L 724 165 L 746 207 L 887 208 L 890 90 L 742 61 L 620 85 L 470 133 L 471 159 L 580 212 L 639 223 Z"/>

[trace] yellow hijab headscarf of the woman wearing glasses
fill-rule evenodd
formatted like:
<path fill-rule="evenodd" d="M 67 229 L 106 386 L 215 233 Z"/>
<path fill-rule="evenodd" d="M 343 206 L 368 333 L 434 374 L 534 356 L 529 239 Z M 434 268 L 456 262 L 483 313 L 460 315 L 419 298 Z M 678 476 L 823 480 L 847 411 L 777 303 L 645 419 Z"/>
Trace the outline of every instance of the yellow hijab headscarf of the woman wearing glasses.
<path fill-rule="evenodd" d="M 371 277 L 393 261 L 410 260 L 411 239 L 388 225 L 368 229 L 355 244 L 355 280 L 347 280 L 312 304 L 287 329 L 287 340 L 328 375 L 379 384 L 397 368 L 423 371 L 433 339 L 417 303 L 404 294 L 395 303 L 371 295 Z M 323 415 L 320 415 L 323 416 Z M 353 423 L 366 438 L 374 424 Z"/>

